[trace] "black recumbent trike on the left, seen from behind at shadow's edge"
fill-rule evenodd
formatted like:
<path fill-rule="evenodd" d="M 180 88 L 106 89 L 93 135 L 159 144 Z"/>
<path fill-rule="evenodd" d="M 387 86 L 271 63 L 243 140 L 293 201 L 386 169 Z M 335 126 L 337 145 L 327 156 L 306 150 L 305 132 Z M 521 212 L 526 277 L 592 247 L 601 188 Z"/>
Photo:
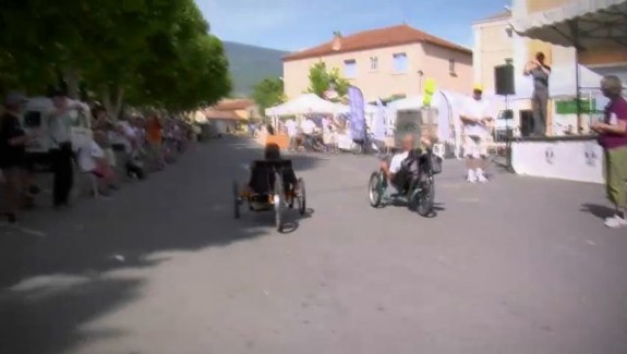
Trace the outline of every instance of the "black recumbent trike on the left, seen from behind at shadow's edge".
<path fill-rule="evenodd" d="M 252 211 L 275 211 L 275 224 L 281 232 L 285 211 L 298 207 L 306 211 L 305 183 L 297 179 L 291 160 L 257 160 L 251 166 L 249 184 L 243 188 L 233 181 L 234 217 L 240 218 L 240 207 L 246 203 Z"/>

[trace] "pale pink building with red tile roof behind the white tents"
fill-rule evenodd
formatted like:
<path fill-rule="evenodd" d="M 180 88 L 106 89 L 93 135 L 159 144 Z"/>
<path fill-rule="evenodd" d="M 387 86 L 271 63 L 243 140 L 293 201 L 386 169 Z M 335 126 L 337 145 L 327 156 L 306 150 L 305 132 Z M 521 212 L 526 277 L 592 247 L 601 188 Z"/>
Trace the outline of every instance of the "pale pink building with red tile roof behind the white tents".
<path fill-rule="evenodd" d="M 472 87 L 472 51 L 407 24 L 336 33 L 329 41 L 284 57 L 286 96 L 294 98 L 309 87 L 309 71 L 317 62 L 337 68 L 366 100 L 420 95 L 423 82 L 438 88 L 468 93 Z"/>

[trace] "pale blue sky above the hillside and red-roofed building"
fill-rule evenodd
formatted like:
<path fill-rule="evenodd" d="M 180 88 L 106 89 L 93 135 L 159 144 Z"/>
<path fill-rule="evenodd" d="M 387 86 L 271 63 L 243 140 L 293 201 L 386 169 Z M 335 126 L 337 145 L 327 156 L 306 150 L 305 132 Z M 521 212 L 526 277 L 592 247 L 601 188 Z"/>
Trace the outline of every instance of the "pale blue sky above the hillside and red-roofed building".
<path fill-rule="evenodd" d="M 196 0 L 222 40 L 297 51 L 365 29 L 402 24 L 472 47 L 471 24 L 507 0 Z"/>

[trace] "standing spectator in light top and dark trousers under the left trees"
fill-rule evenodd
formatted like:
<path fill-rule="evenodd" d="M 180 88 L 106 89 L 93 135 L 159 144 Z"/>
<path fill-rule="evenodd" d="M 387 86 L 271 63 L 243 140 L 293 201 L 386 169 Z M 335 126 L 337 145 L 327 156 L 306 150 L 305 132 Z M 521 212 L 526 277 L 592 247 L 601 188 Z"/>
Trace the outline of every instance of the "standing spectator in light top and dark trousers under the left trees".
<path fill-rule="evenodd" d="M 52 185 L 52 205 L 61 208 L 70 205 L 70 192 L 74 184 L 72 167 L 73 150 L 71 135 L 71 109 L 83 109 L 81 105 L 70 106 L 68 97 L 62 91 L 52 94 L 55 109 L 48 117 L 48 127 L 52 148 L 50 159 L 55 182 Z"/>

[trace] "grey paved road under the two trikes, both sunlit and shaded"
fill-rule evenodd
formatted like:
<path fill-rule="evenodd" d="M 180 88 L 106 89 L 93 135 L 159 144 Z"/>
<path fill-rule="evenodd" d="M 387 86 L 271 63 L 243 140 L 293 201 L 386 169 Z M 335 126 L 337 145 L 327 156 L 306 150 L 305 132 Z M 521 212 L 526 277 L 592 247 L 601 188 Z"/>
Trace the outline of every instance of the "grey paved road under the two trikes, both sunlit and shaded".
<path fill-rule="evenodd" d="M 374 159 L 298 156 L 312 209 L 278 234 L 231 216 L 258 154 L 212 142 L 2 230 L 0 353 L 627 353 L 627 233 L 601 186 L 468 185 L 447 161 L 424 219 L 369 207 Z"/>

